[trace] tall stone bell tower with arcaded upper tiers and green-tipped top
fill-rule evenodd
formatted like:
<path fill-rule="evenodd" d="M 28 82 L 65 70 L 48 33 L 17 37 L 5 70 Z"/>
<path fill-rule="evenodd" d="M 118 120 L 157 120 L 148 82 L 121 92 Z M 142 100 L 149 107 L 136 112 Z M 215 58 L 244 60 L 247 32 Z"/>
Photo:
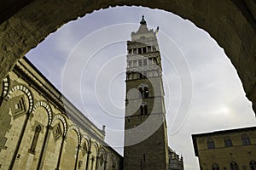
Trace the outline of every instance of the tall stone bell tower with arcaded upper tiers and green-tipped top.
<path fill-rule="evenodd" d="M 158 29 L 156 30 L 158 31 Z M 144 16 L 127 41 L 124 170 L 167 170 L 166 109 L 156 31 Z"/>

